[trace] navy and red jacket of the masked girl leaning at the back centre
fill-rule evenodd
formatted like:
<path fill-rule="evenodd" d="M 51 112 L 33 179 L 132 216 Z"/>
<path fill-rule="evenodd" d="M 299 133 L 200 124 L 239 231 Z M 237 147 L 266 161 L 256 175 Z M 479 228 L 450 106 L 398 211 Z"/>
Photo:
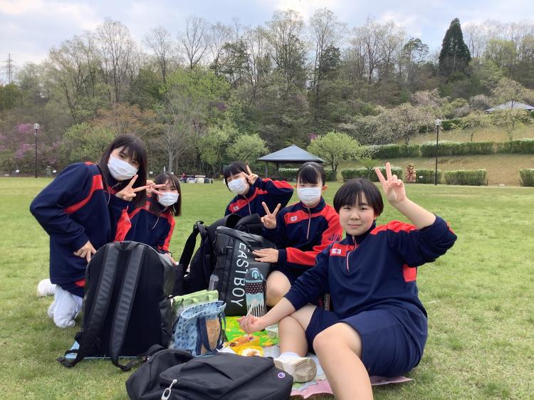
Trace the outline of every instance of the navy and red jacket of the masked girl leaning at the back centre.
<path fill-rule="evenodd" d="M 293 186 L 286 181 L 272 181 L 271 179 L 261 179 L 258 177 L 246 194 L 238 194 L 226 207 L 224 215 L 239 214 L 248 216 L 259 214 L 264 216 L 265 210 L 261 205 L 262 201 L 273 211 L 278 203 L 285 207 L 289 199 L 293 196 Z"/>

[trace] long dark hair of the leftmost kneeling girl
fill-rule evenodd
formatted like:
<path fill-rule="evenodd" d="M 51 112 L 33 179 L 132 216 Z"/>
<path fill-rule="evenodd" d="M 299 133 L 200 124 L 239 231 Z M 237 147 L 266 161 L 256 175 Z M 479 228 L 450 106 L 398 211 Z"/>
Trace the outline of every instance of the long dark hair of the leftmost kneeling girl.
<path fill-rule="evenodd" d="M 102 175 L 105 181 L 106 189 L 110 190 L 110 181 L 114 180 L 110 170 L 108 169 L 108 162 L 110 159 L 111 152 L 118 147 L 124 147 L 124 152 L 130 156 L 130 158 L 135 159 L 139 163 L 139 169 L 137 170 L 137 180 L 133 185 L 134 188 L 145 186 L 147 184 L 147 149 L 145 149 L 145 144 L 142 142 L 140 137 L 135 135 L 125 134 L 118 135 L 110 143 L 108 149 L 105 150 L 98 167 L 102 171 Z M 130 183 L 130 180 L 118 182 L 113 189 L 115 191 L 121 191 L 122 189 Z M 147 196 L 144 190 L 137 191 L 137 196 L 134 198 L 134 204 L 136 207 L 144 206 L 147 201 Z"/>

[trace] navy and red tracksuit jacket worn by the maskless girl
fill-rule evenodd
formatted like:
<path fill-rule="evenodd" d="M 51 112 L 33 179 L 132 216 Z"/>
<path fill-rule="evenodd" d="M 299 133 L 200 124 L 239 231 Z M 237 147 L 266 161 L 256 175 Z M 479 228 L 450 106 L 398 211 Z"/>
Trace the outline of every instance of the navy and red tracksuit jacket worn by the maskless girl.
<path fill-rule="evenodd" d="M 330 293 L 342 318 L 387 310 L 404 325 L 421 354 L 427 335 L 426 310 L 416 284 L 417 267 L 442 256 L 456 241 L 436 216 L 431 226 L 392 221 L 361 236 L 347 236 L 319 253 L 315 267 L 300 275 L 286 294 L 296 310 Z"/>

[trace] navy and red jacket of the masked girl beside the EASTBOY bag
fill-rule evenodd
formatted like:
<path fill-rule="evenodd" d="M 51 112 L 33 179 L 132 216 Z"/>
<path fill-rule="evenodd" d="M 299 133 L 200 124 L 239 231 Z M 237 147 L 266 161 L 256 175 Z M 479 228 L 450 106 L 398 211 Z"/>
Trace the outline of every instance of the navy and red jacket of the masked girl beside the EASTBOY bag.
<path fill-rule="evenodd" d="M 340 241 L 343 229 L 340 216 L 321 197 L 308 209 L 301 201 L 281 209 L 276 228 L 263 228 L 262 236 L 278 247 L 278 263 L 300 275 L 315 265 L 315 257 L 330 243 Z"/>

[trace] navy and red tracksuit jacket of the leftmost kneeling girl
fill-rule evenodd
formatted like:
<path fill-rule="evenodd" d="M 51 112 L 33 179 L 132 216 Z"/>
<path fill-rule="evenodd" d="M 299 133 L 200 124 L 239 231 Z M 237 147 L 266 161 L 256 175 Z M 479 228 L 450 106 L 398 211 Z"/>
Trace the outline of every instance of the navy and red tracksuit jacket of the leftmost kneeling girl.
<path fill-rule="evenodd" d="M 50 279 L 83 296 L 87 261 L 74 256 L 90 241 L 95 249 L 111 241 L 108 196 L 96 164 L 72 164 L 31 202 L 30 211 L 50 236 Z"/>

